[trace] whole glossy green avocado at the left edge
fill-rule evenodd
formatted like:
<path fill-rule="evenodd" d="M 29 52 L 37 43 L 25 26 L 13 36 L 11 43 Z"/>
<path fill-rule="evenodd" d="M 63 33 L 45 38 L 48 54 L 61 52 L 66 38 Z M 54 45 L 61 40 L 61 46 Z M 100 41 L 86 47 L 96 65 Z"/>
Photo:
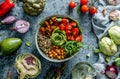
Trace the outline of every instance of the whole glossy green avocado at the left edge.
<path fill-rule="evenodd" d="M 17 51 L 22 45 L 20 38 L 5 38 L 0 44 L 0 49 L 3 55 L 11 55 Z"/>

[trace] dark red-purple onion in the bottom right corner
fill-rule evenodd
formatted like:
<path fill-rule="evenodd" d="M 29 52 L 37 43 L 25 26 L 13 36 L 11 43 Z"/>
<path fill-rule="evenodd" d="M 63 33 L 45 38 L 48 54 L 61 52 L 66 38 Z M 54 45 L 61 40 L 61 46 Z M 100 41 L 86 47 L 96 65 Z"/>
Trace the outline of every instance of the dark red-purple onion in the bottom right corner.
<path fill-rule="evenodd" d="M 105 74 L 110 79 L 115 79 L 118 76 L 118 70 L 117 70 L 117 68 L 113 64 L 112 65 L 108 65 L 108 66 L 106 66 Z"/>

